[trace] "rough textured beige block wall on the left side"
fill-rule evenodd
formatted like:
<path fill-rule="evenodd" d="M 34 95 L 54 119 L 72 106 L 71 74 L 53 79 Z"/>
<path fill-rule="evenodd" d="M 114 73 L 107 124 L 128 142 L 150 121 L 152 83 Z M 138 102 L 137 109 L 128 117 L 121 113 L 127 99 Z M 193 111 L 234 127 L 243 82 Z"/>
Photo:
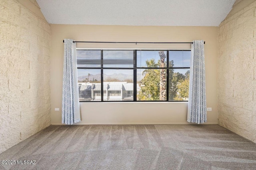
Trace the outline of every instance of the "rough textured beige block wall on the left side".
<path fill-rule="evenodd" d="M 50 26 L 0 0 L 0 41 L 1 153 L 50 125 Z"/>

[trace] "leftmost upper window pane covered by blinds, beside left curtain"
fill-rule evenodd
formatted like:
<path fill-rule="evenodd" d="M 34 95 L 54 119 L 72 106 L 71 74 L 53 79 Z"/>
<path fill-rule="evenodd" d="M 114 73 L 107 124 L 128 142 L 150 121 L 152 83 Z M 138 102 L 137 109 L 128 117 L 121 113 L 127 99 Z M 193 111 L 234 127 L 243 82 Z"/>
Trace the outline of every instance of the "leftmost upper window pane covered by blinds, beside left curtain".
<path fill-rule="evenodd" d="M 101 50 L 76 50 L 78 68 L 100 68 Z"/>

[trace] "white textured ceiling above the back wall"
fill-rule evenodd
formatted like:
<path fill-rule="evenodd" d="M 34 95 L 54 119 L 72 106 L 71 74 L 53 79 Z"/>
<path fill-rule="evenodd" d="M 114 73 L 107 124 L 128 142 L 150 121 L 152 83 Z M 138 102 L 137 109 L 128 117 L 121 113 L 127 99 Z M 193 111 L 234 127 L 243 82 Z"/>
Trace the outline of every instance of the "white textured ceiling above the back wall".
<path fill-rule="evenodd" d="M 235 0 L 36 0 L 48 23 L 218 26 Z"/>

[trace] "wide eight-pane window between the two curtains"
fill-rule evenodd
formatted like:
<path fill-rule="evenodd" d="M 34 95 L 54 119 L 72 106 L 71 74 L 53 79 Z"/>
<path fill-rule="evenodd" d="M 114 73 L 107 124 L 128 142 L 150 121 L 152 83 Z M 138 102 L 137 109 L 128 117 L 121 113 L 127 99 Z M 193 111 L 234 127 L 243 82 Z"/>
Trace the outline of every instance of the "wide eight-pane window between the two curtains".
<path fill-rule="evenodd" d="M 187 101 L 190 50 L 77 49 L 80 102 Z"/>

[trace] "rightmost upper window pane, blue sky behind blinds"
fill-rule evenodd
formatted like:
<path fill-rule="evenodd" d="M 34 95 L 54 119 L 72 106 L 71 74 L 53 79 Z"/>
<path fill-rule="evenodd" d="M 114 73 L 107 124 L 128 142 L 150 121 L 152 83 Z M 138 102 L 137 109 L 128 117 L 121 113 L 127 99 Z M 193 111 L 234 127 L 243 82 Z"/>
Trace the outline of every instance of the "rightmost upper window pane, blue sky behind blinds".
<path fill-rule="evenodd" d="M 169 51 L 169 67 L 190 67 L 191 51 Z"/>

